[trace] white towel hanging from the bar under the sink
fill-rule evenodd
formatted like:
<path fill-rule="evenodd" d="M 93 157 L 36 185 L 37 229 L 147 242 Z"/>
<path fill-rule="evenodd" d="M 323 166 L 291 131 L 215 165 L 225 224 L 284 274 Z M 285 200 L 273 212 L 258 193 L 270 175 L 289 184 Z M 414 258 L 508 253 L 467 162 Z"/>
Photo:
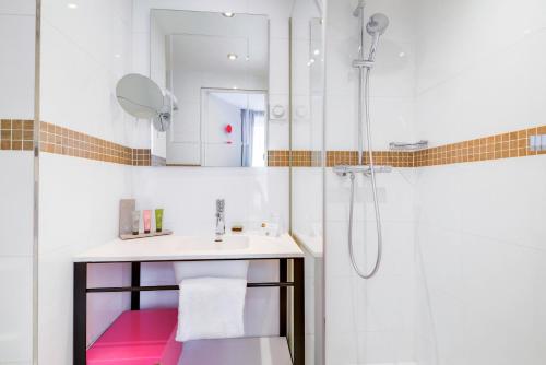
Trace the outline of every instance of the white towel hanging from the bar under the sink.
<path fill-rule="evenodd" d="M 176 340 L 185 342 L 242 337 L 246 292 L 246 279 L 182 280 Z"/>

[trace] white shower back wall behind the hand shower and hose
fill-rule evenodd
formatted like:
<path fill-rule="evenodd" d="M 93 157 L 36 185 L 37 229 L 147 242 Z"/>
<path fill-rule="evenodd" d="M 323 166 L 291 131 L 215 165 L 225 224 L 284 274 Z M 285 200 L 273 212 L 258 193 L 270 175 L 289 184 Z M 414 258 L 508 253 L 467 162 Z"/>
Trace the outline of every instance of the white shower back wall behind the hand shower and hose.
<path fill-rule="evenodd" d="M 371 73 L 375 150 L 389 142 L 412 142 L 415 39 L 408 1 L 366 1 L 366 16 L 385 13 L 391 25 L 380 42 Z M 358 21 L 354 1 L 330 1 L 327 11 L 327 150 L 357 148 Z M 369 45 L 371 38 L 367 38 Z M 349 180 L 327 169 L 325 317 L 327 364 L 396 364 L 414 360 L 414 189 L 411 169 L 378 176 L 383 222 L 383 261 L 370 281 L 359 279 L 348 256 Z M 377 252 L 371 187 L 359 177 L 354 245 L 360 268 L 371 268 Z"/>

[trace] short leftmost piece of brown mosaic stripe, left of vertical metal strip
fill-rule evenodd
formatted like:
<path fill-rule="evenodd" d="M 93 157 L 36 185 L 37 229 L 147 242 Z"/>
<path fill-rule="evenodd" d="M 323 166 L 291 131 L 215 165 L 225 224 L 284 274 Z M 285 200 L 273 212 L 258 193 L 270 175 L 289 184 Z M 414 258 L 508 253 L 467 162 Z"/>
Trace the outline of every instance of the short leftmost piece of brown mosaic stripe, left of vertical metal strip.
<path fill-rule="evenodd" d="M 33 148 L 34 120 L 0 120 L 0 150 L 32 151 Z"/>

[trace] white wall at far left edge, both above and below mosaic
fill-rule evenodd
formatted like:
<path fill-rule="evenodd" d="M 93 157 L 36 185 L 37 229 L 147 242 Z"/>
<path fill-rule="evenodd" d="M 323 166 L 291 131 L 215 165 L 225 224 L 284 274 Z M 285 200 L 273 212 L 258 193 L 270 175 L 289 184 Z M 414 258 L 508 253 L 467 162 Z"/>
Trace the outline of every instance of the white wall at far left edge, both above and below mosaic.
<path fill-rule="evenodd" d="M 34 119 L 36 3 L 0 0 L 0 118 Z M 33 360 L 34 157 L 0 151 L 0 364 Z"/>

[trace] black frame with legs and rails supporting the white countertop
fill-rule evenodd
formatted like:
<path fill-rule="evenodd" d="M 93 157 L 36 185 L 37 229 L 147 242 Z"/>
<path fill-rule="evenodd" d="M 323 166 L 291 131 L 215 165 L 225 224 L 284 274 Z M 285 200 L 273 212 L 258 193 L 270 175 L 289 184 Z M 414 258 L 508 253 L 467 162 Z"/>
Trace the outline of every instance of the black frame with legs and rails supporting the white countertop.
<path fill-rule="evenodd" d="M 294 348 L 292 360 L 294 365 L 305 365 L 305 272 L 304 258 L 249 258 L 249 259 L 203 259 L 203 260 L 153 260 L 153 261 L 107 261 L 74 262 L 74 307 L 73 307 L 73 364 L 86 364 L 87 332 L 87 293 L 131 292 L 131 310 L 140 309 L 140 292 L 177 291 L 178 285 L 141 286 L 142 262 L 181 262 L 181 261 L 233 261 L 233 260 L 278 260 L 278 282 L 248 283 L 247 287 L 280 287 L 280 335 L 287 338 L 288 296 L 287 287 L 294 289 Z M 288 281 L 288 260 L 294 262 L 294 281 Z M 131 263 L 131 286 L 87 287 L 87 264 L 93 263 Z"/>

